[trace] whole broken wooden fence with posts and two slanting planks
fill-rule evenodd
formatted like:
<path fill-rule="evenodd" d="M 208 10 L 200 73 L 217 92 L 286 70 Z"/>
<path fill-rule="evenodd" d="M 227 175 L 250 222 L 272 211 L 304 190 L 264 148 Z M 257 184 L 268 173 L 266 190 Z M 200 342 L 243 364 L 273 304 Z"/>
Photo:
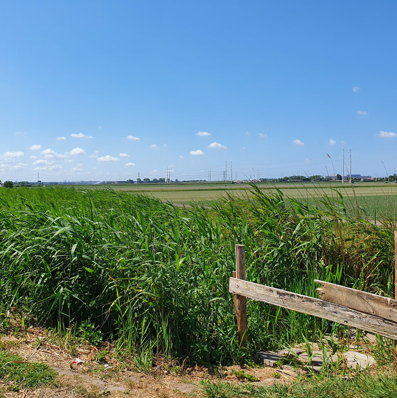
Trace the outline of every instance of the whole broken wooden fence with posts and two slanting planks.
<path fill-rule="evenodd" d="M 245 251 L 236 245 L 236 272 L 229 281 L 229 292 L 234 294 L 238 342 L 246 341 L 246 298 L 318 316 L 333 322 L 357 327 L 397 341 L 397 300 L 362 292 L 356 289 L 315 280 L 320 298 L 303 296 L 286 290 L 259 285 L 245 280 Z M 397 298 L 397 231 L 395 232 L 395 297 Z M 395 343 L 397 366 L 397 344 Z"/>

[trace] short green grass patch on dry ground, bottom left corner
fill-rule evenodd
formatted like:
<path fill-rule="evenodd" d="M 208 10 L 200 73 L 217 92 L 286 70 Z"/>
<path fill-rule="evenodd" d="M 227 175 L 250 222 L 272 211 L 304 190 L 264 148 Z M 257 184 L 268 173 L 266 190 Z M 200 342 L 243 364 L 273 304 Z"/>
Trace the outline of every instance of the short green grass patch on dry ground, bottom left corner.
<path fill-rule="evenodd" d="M 0 378 L 16 388 L 34 389 L 53 384 L 57 374 L 46 364 L 24 361 L 18 355 L 0 350 Z"/>

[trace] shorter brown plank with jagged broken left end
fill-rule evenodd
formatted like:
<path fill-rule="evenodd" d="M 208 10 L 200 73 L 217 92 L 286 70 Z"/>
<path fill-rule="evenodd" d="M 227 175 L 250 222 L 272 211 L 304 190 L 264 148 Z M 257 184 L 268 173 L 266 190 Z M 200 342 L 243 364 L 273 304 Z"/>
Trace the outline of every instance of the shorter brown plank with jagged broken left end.
<path fill-rule="evenodd" d="M 397 322 L 397 300 L 394 298 L 374 295 L 317 279 L 315 282 L 321 285 L 317 293 L 324 301 Z"/>

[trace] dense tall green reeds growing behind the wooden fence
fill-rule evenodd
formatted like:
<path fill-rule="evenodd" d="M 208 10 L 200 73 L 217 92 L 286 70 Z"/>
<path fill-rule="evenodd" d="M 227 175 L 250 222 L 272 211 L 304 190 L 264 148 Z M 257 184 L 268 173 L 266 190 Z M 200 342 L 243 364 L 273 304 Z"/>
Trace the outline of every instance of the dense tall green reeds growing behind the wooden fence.
<path fill-rule="evenodd" d="M 253 187 L 180 208 L 111 190 L 0 191 L 2 305 L 60 331 L 92 322 L 119 349 L 224 364 L 329 331 L 252 300 L 240 349 L 228 291 L 236 243 L 252 282 L 310 296 L 314 279 L 393 292 L 393 223 L 342 216 L 341 196 L 310 204 Z"/>

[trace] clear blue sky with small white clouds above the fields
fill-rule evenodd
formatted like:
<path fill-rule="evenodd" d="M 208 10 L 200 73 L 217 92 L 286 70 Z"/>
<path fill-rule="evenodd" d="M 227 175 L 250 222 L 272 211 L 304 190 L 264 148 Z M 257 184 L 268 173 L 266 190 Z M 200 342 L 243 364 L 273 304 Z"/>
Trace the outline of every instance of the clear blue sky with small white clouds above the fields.
<path fill-rule="evenodd" d="M 326 154 L 340 173 L 343 148 L 353 174 L 393 174 L 396 13 L 395 1 L 1 1 L 0 179 L 159 178 L 170 165 L 172 179 L 216 180 L 225 162 L 237 178 L 333 174 Z"/>

